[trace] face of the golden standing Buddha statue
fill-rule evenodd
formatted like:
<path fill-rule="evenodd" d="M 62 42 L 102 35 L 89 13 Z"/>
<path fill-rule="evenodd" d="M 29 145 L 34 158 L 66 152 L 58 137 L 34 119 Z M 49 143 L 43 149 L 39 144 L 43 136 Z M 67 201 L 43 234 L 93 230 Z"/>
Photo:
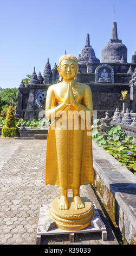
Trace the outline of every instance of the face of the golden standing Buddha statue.
<path fill-rule="evenodd" d="M 76 77 L 77 71 L 78 71 L 78 67 L 76 65 L 75 60 L 73 59 L 62 60 L 60 73 L 64 81 L 66 82 L 73 81 L 74 77 Z"/>

